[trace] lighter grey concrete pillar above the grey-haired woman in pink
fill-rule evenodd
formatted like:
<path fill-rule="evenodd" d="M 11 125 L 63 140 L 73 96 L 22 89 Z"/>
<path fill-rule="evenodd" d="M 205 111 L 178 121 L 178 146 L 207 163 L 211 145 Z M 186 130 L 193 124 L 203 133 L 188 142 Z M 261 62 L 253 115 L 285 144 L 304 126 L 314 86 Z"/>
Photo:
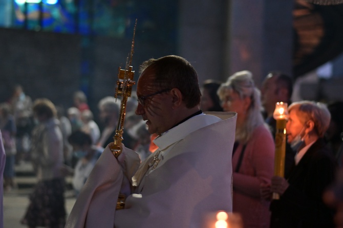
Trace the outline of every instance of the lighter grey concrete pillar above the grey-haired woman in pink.
<path fill-rule="evenodd" d="M 225 71 L 249 70 L 259 87 L 269 71 L 291 75 L 292 9 L 292 1 L 230 1 Z"/>

